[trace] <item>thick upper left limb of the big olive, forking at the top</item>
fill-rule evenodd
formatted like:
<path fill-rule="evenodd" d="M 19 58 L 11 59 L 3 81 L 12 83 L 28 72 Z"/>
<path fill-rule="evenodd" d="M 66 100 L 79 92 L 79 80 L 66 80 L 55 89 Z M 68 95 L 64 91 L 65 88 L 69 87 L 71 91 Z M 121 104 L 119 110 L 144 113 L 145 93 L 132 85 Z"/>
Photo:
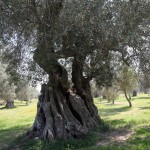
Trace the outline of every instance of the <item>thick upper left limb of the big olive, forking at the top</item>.
<path fill-rule="evenodd" d="M 60 11 L 63 7 L 63 0 L 54 0 L 52 2 L 46 1 L 46 4 L 51 7 L 46 7 L 43 16 L 40 16 L 37 12 L 35 0 L 31 0 L 35 17 L 38 21 L 38 46 L 35 50 L 33 59 L 37 64 L 43 68 L 47 73 L 50 73 L 51 67 L 57 65 L 57 57 L 53 48 L 53 26 L 59 17 Z M 50 9 L 50 10 L 49 10 Z M 48 18 L 47 18 L 48 17 Z"/>

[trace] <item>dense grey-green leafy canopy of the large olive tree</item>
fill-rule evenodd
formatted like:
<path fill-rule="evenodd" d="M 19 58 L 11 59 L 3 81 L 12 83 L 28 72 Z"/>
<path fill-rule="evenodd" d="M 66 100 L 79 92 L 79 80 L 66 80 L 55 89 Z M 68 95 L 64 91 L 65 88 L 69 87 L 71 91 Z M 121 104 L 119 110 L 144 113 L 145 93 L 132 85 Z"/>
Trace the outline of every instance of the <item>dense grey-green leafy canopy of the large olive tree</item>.
<path fill-rule="evenodd" d="M 34 60 L 46 72 L 43 65 L 51 65 L 49 59 L 68 61 L 78 55 L 80 61 L 84 59 L 87 78 L 103 84 L 112 77 L 114 55 L 118 61 L 140 61 L 142 70 L 149 69 L 149 7 L 142 0 L 1 0 L 1 40 L 9 44 L 11 65 L 13 59 L 14 65 L 22 64 L 26 72 L 35 69 L 31 63 L 34 50 Z"/>

